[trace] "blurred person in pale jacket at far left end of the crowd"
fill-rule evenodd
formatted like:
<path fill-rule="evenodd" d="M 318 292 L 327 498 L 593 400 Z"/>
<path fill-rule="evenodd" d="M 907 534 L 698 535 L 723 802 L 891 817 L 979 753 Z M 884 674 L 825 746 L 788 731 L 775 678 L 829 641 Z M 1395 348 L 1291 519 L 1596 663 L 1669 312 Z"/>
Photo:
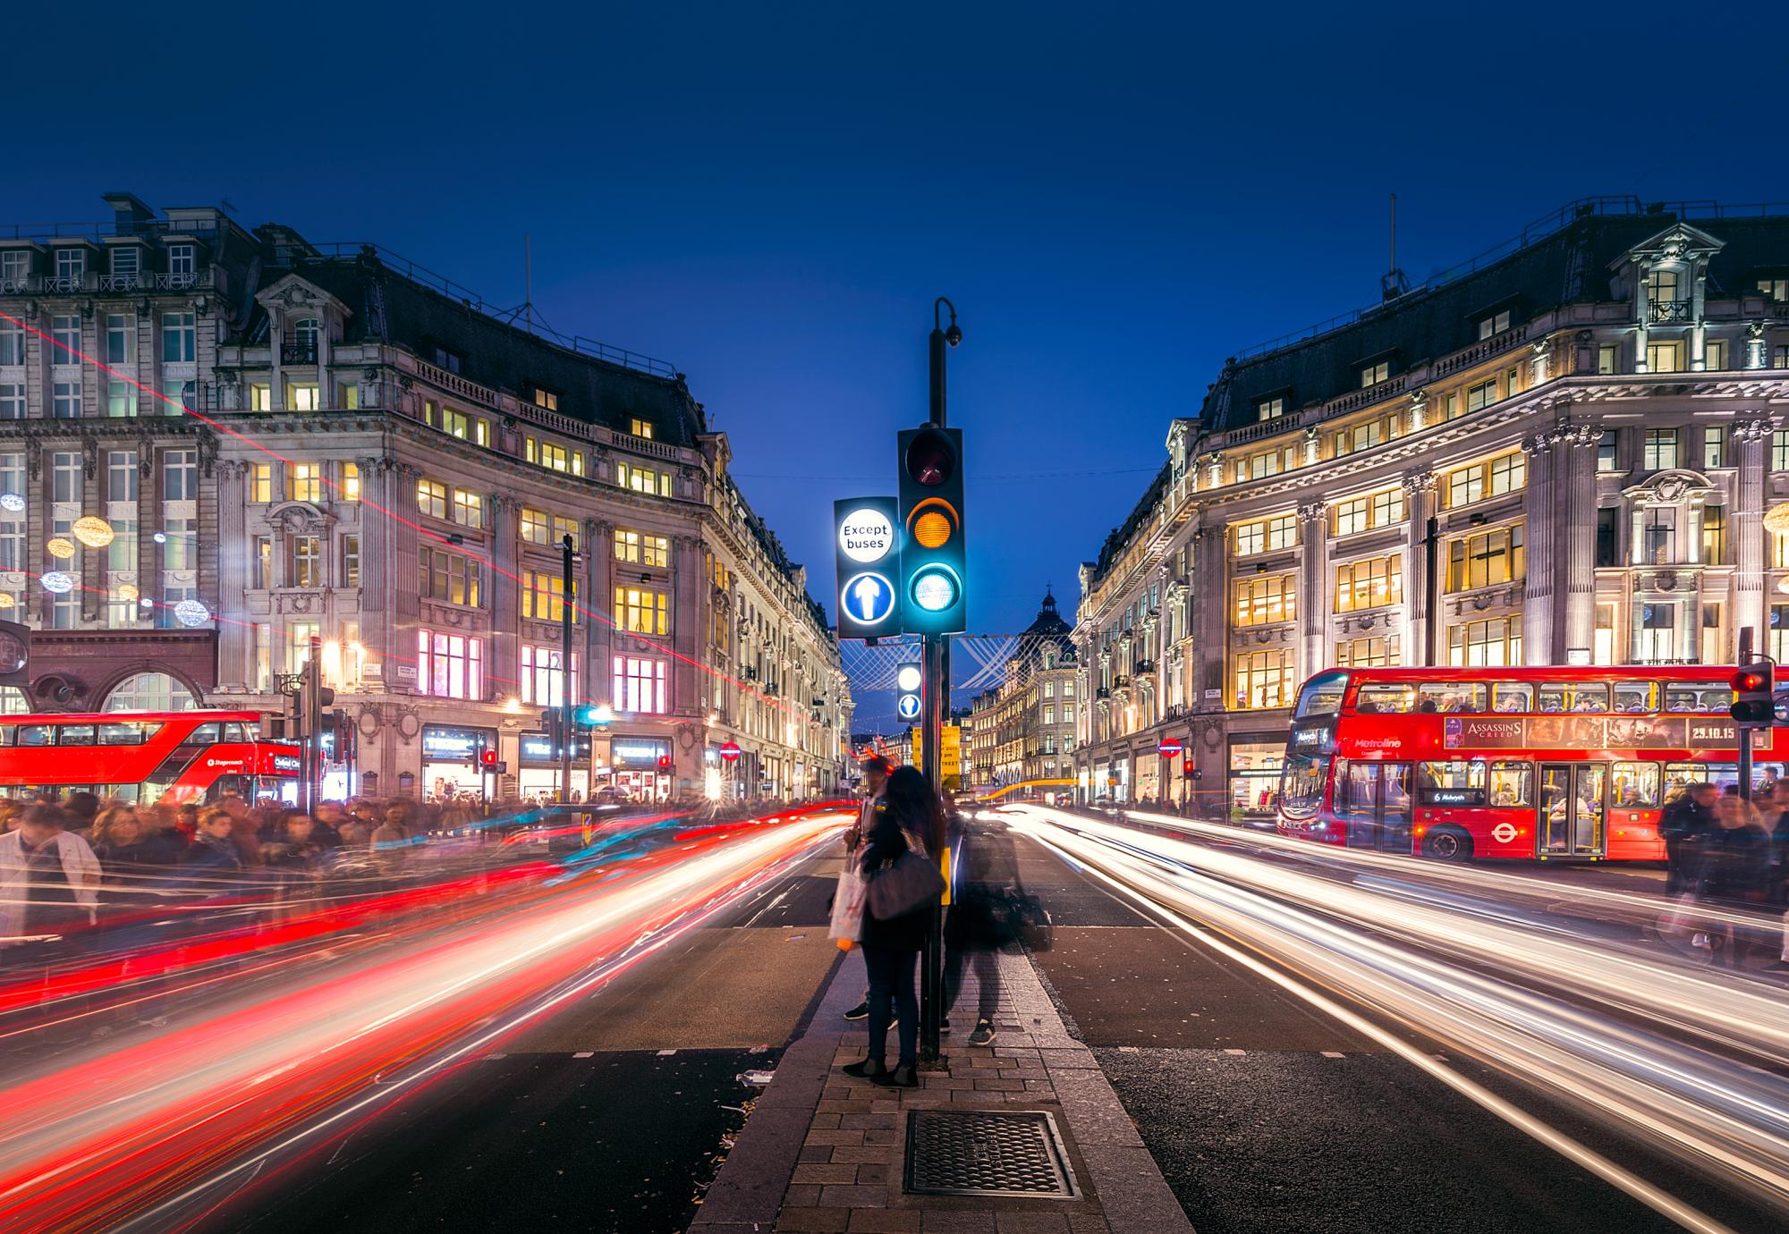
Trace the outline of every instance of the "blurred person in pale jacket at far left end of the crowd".
<path fill-rule="evenodd" d="M 61 935 L 93 923 L 100 860 L 64 823 L 61 807 L 34 805 L 18 816 L 16 830 L 0 835 L 0 948 L 52 935 L 34 939 L 34 959 L 45 960 L 61 950 Z"/>

